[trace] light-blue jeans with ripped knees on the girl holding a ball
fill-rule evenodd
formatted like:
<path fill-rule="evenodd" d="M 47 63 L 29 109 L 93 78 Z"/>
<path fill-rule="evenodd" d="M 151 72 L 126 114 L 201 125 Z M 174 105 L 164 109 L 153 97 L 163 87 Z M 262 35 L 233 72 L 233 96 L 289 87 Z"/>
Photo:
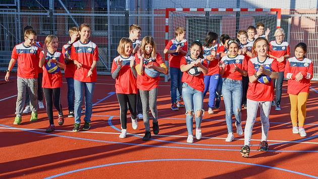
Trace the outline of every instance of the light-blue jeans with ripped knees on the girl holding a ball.
<path fill-rule="evenodd" d="M 183 101 L 186 108 L 186 124 L 188 129 L 188 135 L 193 135 L 193 114 L 195 116 L 195 126 L 200 128 L 202 116 L 203 116 L 203 93 L 197 91 L 193 87 L 189 86 L 187 83 L 182 85 Z M 202 115 L 200 117 L 196 116 L 196 112 L 202 110 Z M 192 112 L 192 115 L 188 114 L 188 111 Z"/>

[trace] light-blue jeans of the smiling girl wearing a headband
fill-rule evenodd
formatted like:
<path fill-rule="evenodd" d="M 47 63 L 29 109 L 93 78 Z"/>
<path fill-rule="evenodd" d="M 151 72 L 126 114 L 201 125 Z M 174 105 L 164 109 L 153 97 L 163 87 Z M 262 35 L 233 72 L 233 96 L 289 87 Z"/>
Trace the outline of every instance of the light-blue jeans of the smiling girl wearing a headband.
<path fill-rule="evenodd" d="M 228 132 L 233 132 L 232 111 L 236 124 L 241 124 L 242 80 L 223 79 L 223 100 L 225 104 L 225 119 Z"/>

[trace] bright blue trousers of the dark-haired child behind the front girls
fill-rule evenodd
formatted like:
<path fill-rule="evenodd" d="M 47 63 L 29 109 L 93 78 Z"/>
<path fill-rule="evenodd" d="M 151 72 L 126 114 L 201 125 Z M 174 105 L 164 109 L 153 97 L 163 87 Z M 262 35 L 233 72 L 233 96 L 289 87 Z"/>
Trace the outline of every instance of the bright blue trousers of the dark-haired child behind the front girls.
<path fill-rule="evenodd" d="M 208 107 L 213 108 L 214 107 L 214 101 L 216 98 L 216 91 L 219 83 L 219 74 L 214 75 L 207 75 L 204 76 L 204 92 L 203 92 L 203 98 L 205 97 L 207 91 L 209 91 L 209 97 L 208 97 Z"/>

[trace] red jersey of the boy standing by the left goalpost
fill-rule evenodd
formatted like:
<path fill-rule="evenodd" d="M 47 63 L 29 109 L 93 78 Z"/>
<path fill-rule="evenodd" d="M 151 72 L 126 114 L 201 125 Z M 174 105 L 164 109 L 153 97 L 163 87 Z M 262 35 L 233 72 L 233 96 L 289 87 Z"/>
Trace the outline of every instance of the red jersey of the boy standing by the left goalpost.
<path fill-rule="evenodd" d="M 186 51 L 186 52 L 188 51 L 188 41 L 186 39 L 183 39 L 181 41 L 177 41 L 176 39 L 173 38 L 168 42 L 165 49 L 170 50 L 170 47 L 173 44 L 176 46 L 181 46 L 181 49 Z M 174 67 L 174 68 L 180 68 L 180 61 L 181 61 L 182 57 L 184 57 L 184 56 L 181 55 L 180 53 L 177 56 L 173 56 L 170 54 L 169 66 Z"/>

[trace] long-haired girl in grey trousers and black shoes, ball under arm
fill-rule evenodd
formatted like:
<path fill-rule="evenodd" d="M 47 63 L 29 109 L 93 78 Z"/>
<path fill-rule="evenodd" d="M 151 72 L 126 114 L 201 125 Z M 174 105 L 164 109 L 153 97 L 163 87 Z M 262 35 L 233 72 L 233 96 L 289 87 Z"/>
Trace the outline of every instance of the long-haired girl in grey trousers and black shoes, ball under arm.
<path fill-rule="evenodd" d="M 162 57 L 156 51 L 156 45 L 151 36 L 145 36 L 141 41 L 141 47 L 139 52 L 135 55 L 136 70 L 137 70 L 137 88 L 140 92 L 142 111 L 143 111 L 143 123 L 145 125 L 145 136 L 142 138 L 144 141 L 148 141 L 151 138 L 150 126 L 149 126 L 149 107 L 152 114 L 152 130 L 153 134 L 159 133 L 159 125 L 157 118 L 157 94 L 158 84 L 160 76 L 149 77 L 146 75 L 146 69 L 154 69 L 158 72 L 167 73 L 168 69 L 164 63 Z M 156 62 L 160 66 L 149 64 Z"/>

